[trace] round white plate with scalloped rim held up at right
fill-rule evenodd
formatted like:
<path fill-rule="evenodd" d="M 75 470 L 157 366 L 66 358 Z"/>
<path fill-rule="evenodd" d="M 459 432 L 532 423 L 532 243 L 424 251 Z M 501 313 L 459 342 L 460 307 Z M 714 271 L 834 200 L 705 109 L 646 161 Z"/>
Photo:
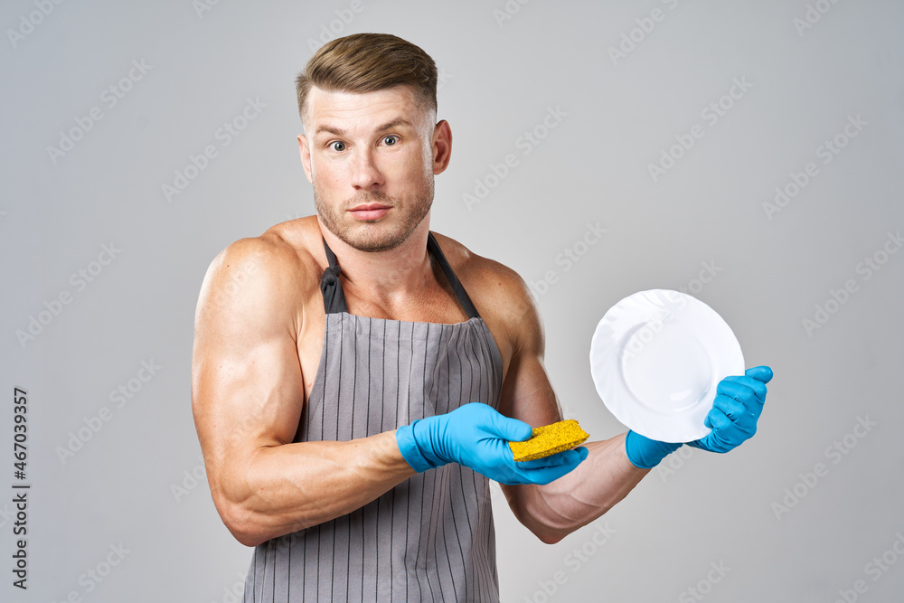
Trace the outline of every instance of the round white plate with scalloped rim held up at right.
<path fill-rule="evenodd" d="M 641 291 L 612 306 L 590 342 L 590 374 L 627 428 L 663 442 L 703 438 L 716 385 L 744 374 L 731 327 L 699 299 Z"/>

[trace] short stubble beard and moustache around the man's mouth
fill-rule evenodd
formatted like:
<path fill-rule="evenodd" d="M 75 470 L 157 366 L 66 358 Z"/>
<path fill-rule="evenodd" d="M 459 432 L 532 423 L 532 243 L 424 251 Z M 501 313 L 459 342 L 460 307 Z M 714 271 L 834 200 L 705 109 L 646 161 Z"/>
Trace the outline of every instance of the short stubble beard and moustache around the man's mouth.
<path fill-rule="evenodd" d="M 396 197 L 381 191 L 371 191 L 355 194 L 336 206 L 324 201 L 325 194 L 320 191 L 316 179 L 314 182 L 314 205 L 326 230 L 354 249 L 370 253 L 395 249 L 408 240 L 430 211 L 433 194 L 433 179 L 425 177 L 418 189 L 411 194 L 409 203 L 400 204 Z M 347 211 L 362 203 L 390 205 L 392 209 L 387 217 L 396 213 L 400 215 L 393 216 L 392 225 L 385 223 L 385 218 L 357 221 Z"/>

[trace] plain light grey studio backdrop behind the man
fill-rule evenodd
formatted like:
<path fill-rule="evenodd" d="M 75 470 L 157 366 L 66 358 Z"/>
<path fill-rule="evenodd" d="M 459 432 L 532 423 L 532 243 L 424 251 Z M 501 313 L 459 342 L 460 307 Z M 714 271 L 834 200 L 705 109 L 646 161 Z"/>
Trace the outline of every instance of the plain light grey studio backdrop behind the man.
<path fill-rule="evenodd" d="M 748 366 L 776 373 L 756 438 L 673 455 L 558 544 L 494 485 L 503 600 L 899 600 L 904 5 L 0 13 L 0 599 L 235 600 L 251 551 L 213 507 L 191 415 L 199 288 L 231 241 L 314 212 L 297 72 L 334 37 L 387 32 L 440 71 L 454 147 L 431 227 L 531 284 L 567 417 L 594 439 L 625 430 L 588 353 L 607 308 L 639 290 L 698 297 Z"/>

